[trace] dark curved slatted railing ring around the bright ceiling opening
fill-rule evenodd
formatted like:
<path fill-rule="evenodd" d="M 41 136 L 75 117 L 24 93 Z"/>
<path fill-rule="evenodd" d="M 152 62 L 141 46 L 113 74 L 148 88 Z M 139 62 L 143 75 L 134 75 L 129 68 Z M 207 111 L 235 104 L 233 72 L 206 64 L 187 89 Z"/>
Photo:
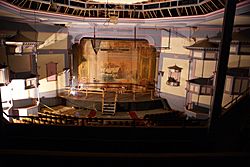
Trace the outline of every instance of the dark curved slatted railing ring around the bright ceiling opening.
<path fill-rule="evenodd" d="M 225 2 L 221 0 L 169 0 L 146 4 L 102 4 L 71 0 L 65 4 L 54 0 L 53 3 L 41 0 L 5 0 L 19 8 L 53 12 L 79 17 L 135 18 L 151 19 L 203 15 L 222 9 Z M 241 2 L 238 0 L 238 2 Z"/>

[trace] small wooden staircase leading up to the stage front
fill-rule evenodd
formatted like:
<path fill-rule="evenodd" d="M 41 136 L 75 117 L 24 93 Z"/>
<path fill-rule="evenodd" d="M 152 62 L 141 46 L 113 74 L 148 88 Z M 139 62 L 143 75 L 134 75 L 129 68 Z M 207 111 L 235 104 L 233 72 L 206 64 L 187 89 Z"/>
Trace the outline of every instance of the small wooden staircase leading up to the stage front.
<path fill-rule="evenodd" d="M 105 101 L 105 94 L 103 93 L 102 114 L 115 115 L 116 102 L 117 102 L 117 92 L 115 93 L 114 101 Z"/>

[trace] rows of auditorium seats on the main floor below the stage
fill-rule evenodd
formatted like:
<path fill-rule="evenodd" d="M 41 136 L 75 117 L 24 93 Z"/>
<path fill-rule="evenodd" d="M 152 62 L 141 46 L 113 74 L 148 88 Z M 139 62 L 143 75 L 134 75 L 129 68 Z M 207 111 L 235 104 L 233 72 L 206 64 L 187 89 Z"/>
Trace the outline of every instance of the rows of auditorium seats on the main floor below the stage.
<path fill-rule="evenodd" d="M 83 116 L 75 116 L 74 112 L 59 113 L 49 110 L 41 110 L 38 116 L 22 117 L 13 119 L 14 123 L 25 124 L 47 124 L 47 125 L 71 125 L 71 126 L 183 126 L 195 125 L 197 121 L 192 122 L 186 120 L 186 115 L 179 111 L 169 111 L 165 113 L 146 114 L 143 119 L 104 119 L 104 118 L 88 118 Z"/>

